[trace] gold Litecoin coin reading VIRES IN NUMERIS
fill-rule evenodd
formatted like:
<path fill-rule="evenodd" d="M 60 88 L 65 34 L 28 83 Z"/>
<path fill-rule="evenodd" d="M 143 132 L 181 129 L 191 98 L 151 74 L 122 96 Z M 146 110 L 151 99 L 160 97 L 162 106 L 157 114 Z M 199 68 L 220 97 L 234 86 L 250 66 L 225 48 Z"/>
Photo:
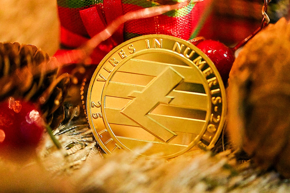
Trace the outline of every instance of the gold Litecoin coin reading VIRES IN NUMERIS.
<path fill-rule="evenodd" d="M 117 46 L 90 81 L 87 116 L 106 152 L 146 145 L 144 156 L 172 158 L 210 149 L 220 136 L 225 89 L 211 60 L 168 35 L 144 35 Z"/>

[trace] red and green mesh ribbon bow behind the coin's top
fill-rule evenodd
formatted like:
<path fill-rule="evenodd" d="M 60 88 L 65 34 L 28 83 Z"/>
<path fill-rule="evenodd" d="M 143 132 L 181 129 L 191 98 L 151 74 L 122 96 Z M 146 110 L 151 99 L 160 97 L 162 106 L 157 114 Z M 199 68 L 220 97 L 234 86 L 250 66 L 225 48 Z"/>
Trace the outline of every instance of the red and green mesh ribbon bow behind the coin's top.
<path fill-rule="evenodd" d="M 99 3 L 86 5 L 91 1 L 58 0 L 61 23 L 61 43 L 68 48 L 77 48 L 88 39 L 101 32 L 119 16 L 134 10 L 156 6 L 146 0 L 99 0 Z M 96 2 L 96 1 L 95 1 Z M 114 47 L 139 35 L 167 34 L 188 39 L 192 31 L 193 5 L 158 17 L 137 19 L 126 22 L 109 39 L 102 42 L 92 53 L 91 63 L 99 64 L 102 58 Z M 56 55 L 60 54 L 59 50 Z"/>

